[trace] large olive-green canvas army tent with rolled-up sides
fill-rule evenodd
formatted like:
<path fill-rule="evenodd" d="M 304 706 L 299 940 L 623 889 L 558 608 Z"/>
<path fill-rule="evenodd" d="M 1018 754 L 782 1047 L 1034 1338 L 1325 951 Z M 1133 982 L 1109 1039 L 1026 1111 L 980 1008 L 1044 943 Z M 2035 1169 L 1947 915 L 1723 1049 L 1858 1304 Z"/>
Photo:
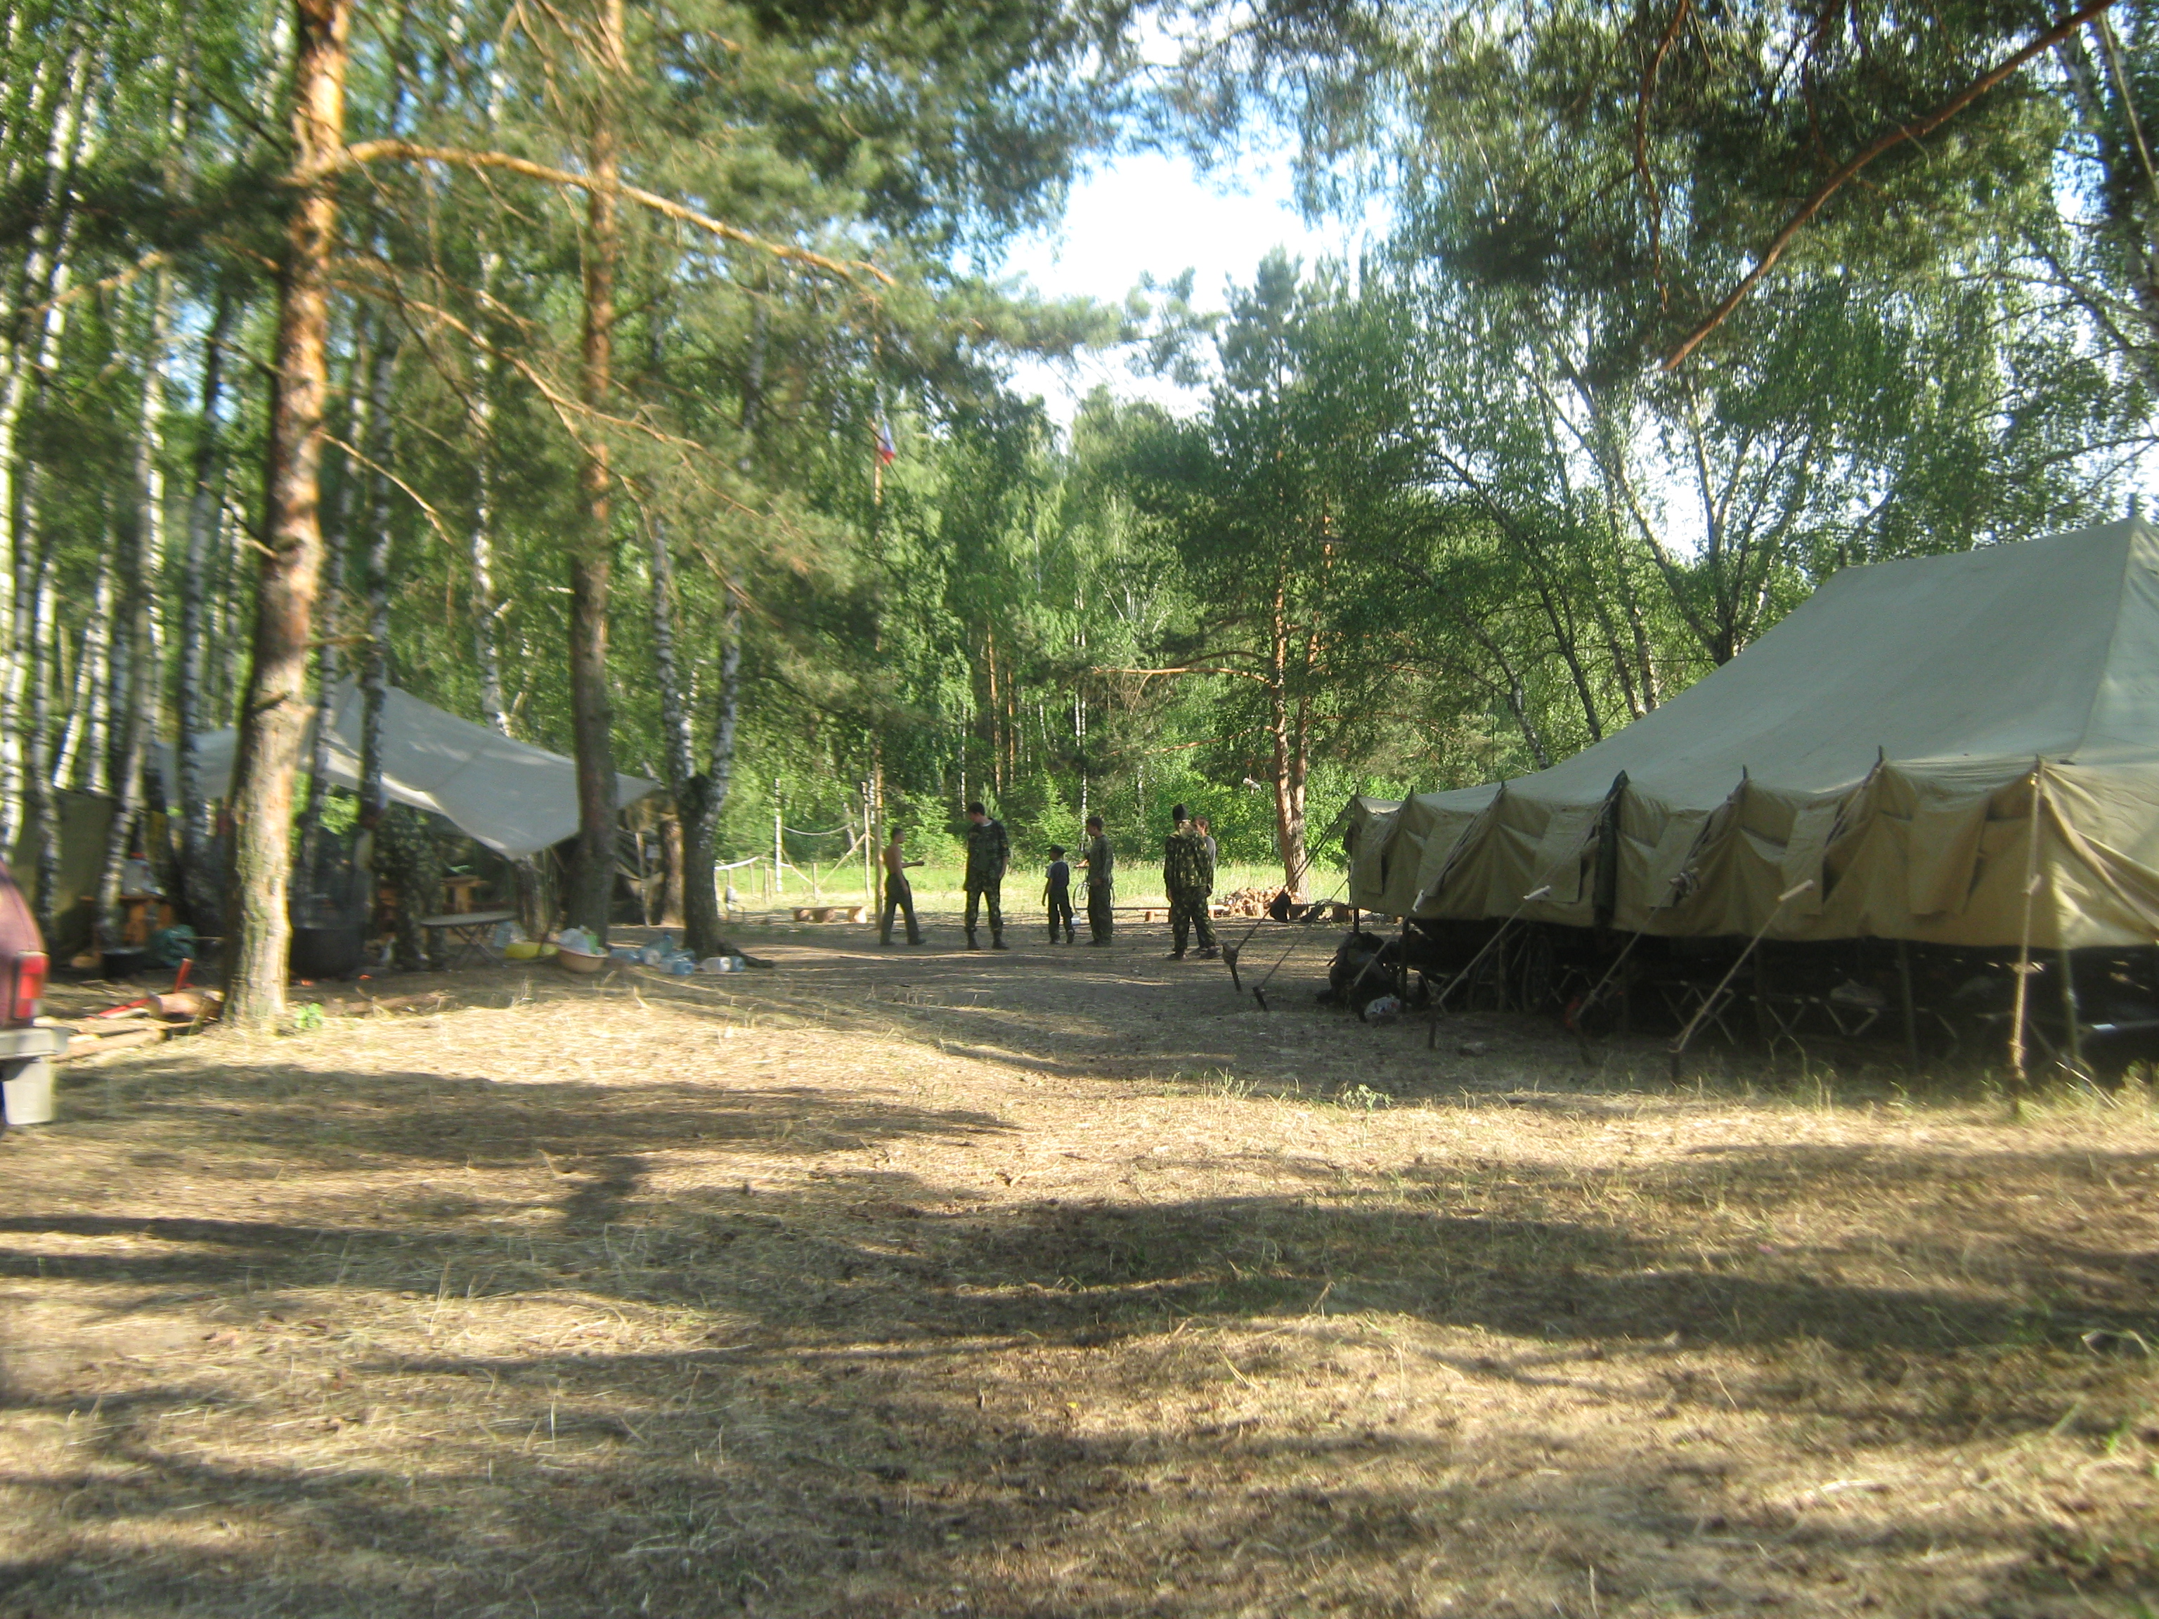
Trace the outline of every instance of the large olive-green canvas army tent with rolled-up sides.
<path fill-rule="evenodd" d="M 2150 945 L 2159 535 L 1846 568 L 1563 764 L 1358 801 L 1349 846 L 1354 902 L 1386 915 Z"/>

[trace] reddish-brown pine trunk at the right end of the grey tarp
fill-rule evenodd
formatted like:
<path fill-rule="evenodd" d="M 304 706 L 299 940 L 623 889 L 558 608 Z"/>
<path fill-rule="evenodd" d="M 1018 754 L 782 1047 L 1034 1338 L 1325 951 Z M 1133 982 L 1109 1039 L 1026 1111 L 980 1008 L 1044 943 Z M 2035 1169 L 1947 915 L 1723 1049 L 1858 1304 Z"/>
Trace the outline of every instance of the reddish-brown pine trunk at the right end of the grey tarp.
<path fill-rule="evenodd" d="M 622 0 L 598 0 L 598 95 L 592 104 L 587 171 L 605 181 L 585 203 L 585 330 L 581 393 L 594 419 L 583 466 L 585 522 L 570 548 L 570 727 L 576 751 L 576 857 L 570 866 L 568 913 L 602 943 L 615 889 L 615 743 L 607 691 L 607 609 L 613 574 L 609 494 L 613 475 L 598 412 L 613 393 L 615 263 L 622 255 L 615 218 L 617 179 L 613 86 L 624 69 Z"/>

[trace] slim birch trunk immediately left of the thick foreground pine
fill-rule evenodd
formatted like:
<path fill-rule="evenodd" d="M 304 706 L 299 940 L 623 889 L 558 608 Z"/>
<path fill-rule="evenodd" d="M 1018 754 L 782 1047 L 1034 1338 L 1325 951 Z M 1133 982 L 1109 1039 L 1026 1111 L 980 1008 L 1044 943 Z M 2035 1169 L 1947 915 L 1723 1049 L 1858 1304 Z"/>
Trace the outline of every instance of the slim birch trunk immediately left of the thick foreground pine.
<path fill-rule="evenodd" d="M 209 667 L 209 546 L 218 538 L 218 505 L 225 494 L 218 445 L 218 408 L 225 395 L 225 341 L 231 335 L 233 298 L 218 289 L 203 337 L 201 432 L 188 486 L 188 550 L 179 570 L 179 678 L 175 682 L 173 745 L 175 797 L 179 799 L 179 883 L 188 920 L 209 933 L 218 926 L 225 883 L 216 870 L 216 838 L 209 794 L 203 790 L 203 732 L 207 723 L 203 678 Z"/>

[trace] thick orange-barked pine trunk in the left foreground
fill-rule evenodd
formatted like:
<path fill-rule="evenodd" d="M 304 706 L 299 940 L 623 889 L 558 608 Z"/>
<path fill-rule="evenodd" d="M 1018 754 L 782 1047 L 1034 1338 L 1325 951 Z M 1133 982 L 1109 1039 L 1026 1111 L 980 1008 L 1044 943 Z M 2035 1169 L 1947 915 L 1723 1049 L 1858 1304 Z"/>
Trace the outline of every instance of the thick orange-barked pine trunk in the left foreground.
<path fill-rule="evenodd" d="M 276 386 L 263 455 L 266 555 L 233 768 L 233 948 L 227 1019 L 285 1015 L 291 943 L 291 781 L 307 727 L 307 665 L 322 585 L 322 406 L 328 389 L 332 166 L 345 140 L 350 0 L 294 0 L 294 203 L 279 274 Z"/>

